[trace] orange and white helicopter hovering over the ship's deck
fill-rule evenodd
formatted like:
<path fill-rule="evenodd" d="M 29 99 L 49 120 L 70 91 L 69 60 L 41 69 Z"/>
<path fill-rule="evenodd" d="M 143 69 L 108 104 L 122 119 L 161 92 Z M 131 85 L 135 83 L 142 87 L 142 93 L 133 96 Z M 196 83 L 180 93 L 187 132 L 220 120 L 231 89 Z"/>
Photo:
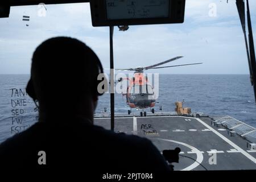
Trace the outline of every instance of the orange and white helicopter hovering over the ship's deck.
<path fill-rule="evenodd" d="M 142 109 L 141 117 L 144 114 L 146 117 L 146 111 L 144 109 L 150 107 L 152 113 L 155 113 L 155 92 L 154 87 L 148 82 L 147 76 L 144 76 L 143 71 L 148 69 L 160 69 L 160 68 L 171 68 L 171 67 L 181 67 L 187 65 L 196 65 L 203 63 L 192 63 L 192 64 L 180 64 L 180 65 L 171 65 L 165 67 L 159 67 L 160 65 L 170 63 L 171 61 L 175 61 L 177 59 L 182 58 L 183 56 L 177 56 L 172 59 L 160 62 L 158 64 L 150 65 L 147 67 L 137 67 L 137 68 L 127 68 L 127 69 L 115 69 L 117 71 L 134 71 L 134 76 L 132 78 L 119 78 L 118 82 L 122 82 L 123 80 L 128 80 L 129 85 L 127 86 L 126 93 L 122 93 L 123 96 L 126 97 L 126 104 L 130 107 L 128 110 L 128 114 L 131 114 L 131 109 Z M 144 113 L 143 113 L 144 112 Z"/>

